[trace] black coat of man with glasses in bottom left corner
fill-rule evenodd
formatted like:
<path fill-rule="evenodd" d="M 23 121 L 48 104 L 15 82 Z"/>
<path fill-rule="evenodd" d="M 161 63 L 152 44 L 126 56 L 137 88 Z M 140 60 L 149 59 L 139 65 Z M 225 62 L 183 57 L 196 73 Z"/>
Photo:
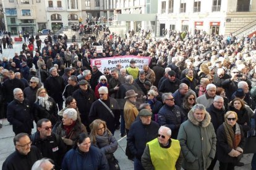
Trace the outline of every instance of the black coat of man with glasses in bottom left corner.
<path fill-rule="evenodd" d="M 9 155 L 2 164 L 2 170 L 31 169 L 33 164 L 43 158 L 40 150 L 31 146 L 28 155 L 21 155 L 17 150 Z"/>

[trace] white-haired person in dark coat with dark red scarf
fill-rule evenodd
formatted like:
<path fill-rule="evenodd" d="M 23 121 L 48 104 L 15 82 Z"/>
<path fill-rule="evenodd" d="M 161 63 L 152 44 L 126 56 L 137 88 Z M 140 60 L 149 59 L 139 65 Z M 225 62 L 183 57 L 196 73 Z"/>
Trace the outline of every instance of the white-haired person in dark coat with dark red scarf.
<path fill-rule="evenodd" d="M 74 147 L 75 140 L 80 133 L 86 132 L 85 126 L 77 119 L 77 111 L 74 108 L 67 108 L 63 112 L 62 123 L 53 132 L 62 137 L 67 149 Z"/>

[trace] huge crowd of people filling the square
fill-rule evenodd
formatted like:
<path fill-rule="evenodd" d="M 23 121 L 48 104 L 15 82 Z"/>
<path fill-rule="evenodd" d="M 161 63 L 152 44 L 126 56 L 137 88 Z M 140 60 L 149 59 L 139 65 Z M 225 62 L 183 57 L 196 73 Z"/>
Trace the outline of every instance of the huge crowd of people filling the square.
<path fill-rule="evenodd" d="M 48 35 L 42 48 L 36 36 L 3 57 L 0 118 L 12 124 L 15 152 L 2 169 L 120 169 L 117 129 L 134 169 L 243 166 L 245 139 L 255 135 L 255 34 L 168 33 L 124 39 L 109 31 L 69 47 L 65 36 Z M 151 61 L 142 70 L 135 60 L 103 72 L 90 65 L 124 55 Z"/>

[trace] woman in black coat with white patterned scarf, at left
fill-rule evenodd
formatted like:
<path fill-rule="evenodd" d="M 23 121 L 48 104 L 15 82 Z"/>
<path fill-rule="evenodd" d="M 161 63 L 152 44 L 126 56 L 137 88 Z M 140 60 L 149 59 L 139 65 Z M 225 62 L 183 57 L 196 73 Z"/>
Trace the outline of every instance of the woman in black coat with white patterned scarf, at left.
<path fill-rule="evenodd" d="M 36 92 L 36 101 L 33 107 L 35 122 L 42 118 L 49 119 L 51 124 L 58 121 L 58 107 L 52 97 L 49 97 L 45 88 Z"/>

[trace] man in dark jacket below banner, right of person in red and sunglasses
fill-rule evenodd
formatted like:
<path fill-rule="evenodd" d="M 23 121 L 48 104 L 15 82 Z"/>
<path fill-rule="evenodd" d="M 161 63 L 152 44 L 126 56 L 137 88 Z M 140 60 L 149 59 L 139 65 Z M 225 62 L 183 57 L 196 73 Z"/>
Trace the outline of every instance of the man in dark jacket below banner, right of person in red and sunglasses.
<path fill-rule="evenodd" d="M 121 86 L 121 84 L 124 84 L 125 79 L 122 76 L 118 75 L 118 70 L 116 68 L 111 70 L 111 76 L 112 78 L 109 79 L 108 86 L 109 95 L 114 99 L 117 99 L 119 87 Z"/>

